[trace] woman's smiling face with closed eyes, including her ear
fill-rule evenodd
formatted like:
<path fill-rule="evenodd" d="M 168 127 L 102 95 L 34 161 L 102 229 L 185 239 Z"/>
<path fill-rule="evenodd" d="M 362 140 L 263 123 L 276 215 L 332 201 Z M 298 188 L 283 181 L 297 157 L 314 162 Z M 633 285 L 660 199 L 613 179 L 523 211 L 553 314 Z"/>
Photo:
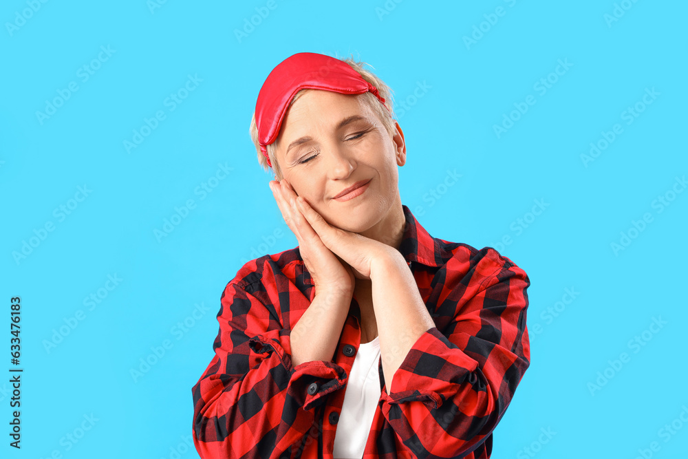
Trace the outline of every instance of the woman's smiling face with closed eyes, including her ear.
<path fill-rule="evenodd" d="M 361 95 L 301 94 L 283 118 L 275 147 L 283 178 L 333 226 L 362 233 L 400 203 L 403 133 L 396 124 L 390 136 Z M 357 182 L 367 182 L 363 193 L 335 198 Z"/>

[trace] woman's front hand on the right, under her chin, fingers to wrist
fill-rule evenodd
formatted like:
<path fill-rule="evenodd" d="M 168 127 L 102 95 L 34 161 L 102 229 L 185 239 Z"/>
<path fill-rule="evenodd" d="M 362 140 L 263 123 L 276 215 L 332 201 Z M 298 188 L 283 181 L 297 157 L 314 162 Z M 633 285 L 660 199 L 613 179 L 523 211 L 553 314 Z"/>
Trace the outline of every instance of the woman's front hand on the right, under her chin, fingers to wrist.
<path fill-rule="evenodd" d="M 323 244 L 333 253 L 341 257 L 358 273 L 361 279 L 370 279 L 373 262 L 379 262 L 385 257 L 401 255 L 398 250 L 387 244 L 376 241 L 358 233 L 337 228 L 327 223 L 325 219 L 303 197 L 297 197 L 297 209 L 310 223 L 310 226 L 320 236 Z M 396 254 L 395 254 L 396 252 Z"/>

